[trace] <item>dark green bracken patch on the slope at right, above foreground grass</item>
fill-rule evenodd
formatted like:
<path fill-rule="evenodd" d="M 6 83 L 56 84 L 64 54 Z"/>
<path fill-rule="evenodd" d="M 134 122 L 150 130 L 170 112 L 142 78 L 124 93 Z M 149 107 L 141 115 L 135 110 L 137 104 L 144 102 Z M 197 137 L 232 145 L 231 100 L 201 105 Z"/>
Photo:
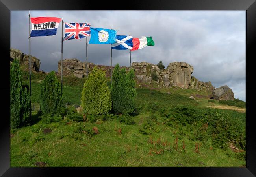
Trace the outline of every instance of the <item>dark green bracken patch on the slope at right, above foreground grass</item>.
<path fill-rule="evenodd" d="M 227 148 L 232 141 L 236 146 L 245 149 L 245 113 L 236 111 L 176 106 L 160 109 L 165 116 L 165 124 L 175 128 L 176 125 L 193 126 L 196 140 L 206 142 L 211 138 L 213 146 Z"/>

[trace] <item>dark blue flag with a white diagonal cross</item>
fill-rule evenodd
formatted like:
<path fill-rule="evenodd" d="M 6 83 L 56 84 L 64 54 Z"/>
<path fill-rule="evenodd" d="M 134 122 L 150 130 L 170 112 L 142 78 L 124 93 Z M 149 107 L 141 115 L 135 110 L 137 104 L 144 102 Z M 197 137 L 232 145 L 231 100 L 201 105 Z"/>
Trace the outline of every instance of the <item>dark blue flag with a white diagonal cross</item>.
<path fill-rule="evenodd" d="M 111 49 L 127 50 L 133 47 L 132 36 L 117 35 L 116 40 L 117 42 L 115 44 L 111 44 Z"/>

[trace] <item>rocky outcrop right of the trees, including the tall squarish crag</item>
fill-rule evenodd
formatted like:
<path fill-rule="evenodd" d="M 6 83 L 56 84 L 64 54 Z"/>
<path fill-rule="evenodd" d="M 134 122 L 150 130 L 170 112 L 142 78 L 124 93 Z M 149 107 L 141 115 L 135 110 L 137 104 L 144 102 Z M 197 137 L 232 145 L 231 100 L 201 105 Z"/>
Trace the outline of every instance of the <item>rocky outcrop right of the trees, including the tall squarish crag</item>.
<path fill-rule="evenodd" d="M 201 82 L 191 76 L 194 68 L 185 62 L 172 62 L 167 69 L 159 69 L 157 65 L 147 62 L 133 62 L 135 76 L 141 82 L 156 82 L 160 87 L 177 86 L 184 89 L 214 90 L 211 82 Z M 157 80 L 152 80 L 152 73 L 156 71 Z"/>

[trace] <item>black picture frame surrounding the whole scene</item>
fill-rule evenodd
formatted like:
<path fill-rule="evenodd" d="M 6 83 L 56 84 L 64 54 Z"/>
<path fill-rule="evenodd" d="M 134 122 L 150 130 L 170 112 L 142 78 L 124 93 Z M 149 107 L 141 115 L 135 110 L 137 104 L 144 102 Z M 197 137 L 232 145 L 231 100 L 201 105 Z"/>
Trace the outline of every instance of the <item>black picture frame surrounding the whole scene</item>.
<path fill-rule="evenodd" d="M 175 173 L 190 176 L 225 176 L 241 177 L 256 175 L 256 128 L 253 124 L 253 109 L 255 102 L 254 81 L 254 50 L 256 44 L 256 2 L 255 0 L 141 0 L 139 2 L 108 1 L 104 5 L 99 5 L 97 1 L 85 0 L 1 0 L 0 20 L 1 20 L 1 58 L 4 65 L 1 65 L 2 84 L 0 84 L 2 96 L 2 110 L 6 114 L 0 116 L 0 175 L 2 176 L 78 176 L 89 175 L 119 175 L 143 176 L 156 173 L 158 175 L 174 175 Z M 104 8 L 104 9 L 101 9 Z M 11 10 L 245 10 L 246 11 L 246 94 L 247 113 L 246 113 L 246 135 L 247 135 L 247 157 L 246 168 L 10 168 L 10 135 L 9 135 L 9 50 L 10 50 L 10 11 Z"/>

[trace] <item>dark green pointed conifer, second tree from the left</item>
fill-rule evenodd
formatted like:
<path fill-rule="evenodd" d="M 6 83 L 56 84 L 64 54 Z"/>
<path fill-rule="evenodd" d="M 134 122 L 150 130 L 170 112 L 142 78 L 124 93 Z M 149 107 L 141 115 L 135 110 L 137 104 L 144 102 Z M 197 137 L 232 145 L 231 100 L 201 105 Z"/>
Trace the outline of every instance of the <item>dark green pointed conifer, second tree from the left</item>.
<path fill-rule="evenodd" d="M 54 71 L 50 72 L 41 82 L 39 99 L 44 115 L 54 115 L 62 107 L 63 95 L 61 84 Z"/>

